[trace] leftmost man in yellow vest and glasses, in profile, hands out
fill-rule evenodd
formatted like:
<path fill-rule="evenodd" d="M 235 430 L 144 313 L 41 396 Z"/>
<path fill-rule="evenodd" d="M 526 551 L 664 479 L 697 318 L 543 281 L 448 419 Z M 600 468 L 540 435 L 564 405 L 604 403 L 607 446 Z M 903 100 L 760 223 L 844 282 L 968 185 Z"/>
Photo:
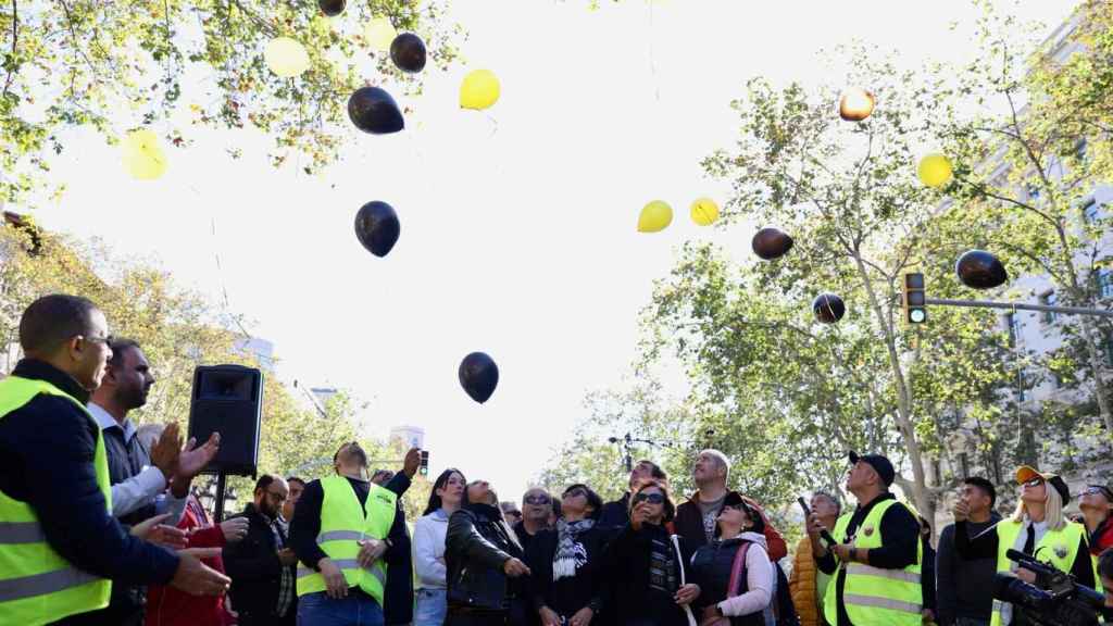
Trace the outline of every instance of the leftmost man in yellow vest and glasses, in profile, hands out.
<path fill-rule="evenodd" d="M 26 359 L 0 380 L 0 622 L 87 624 L 111 581 L 219 595 L 228 578 L 132 537 L 111 515 L 108 462 L 89 392 L 111 355 L 97 306 L 48 295 L 23 312 Z"/>

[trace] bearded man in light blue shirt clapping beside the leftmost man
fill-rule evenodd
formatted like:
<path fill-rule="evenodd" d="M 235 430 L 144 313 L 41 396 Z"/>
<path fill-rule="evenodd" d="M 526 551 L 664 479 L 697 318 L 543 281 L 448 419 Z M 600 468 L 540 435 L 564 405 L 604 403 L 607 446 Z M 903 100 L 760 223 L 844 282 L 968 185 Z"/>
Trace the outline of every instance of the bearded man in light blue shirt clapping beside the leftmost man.
<path fill-rule="evenodd" d="M 220 438 L 214 433 L 205 446 L 194 448 L 190 442 L 189 449 L 183 450 L 178 426 L 171 423 L 148 451 L 128 413 L 147 403 L 155 384 L 150 364 L 135 341 L 114 339 L 109 348 L 112 355 L 88 409 L 101 429 L 108 453 L 112 515 L 124 524 L 136 525 L 166 512 L 166 524 L 177 526 L 189 483 L 216 454 Z M 171 486 L 169 497 L 159 498 L 167 486 Z M 102 615 L 105 622 L 141 624 L 146 596 L 142 587 L 114 585 L 111 601 Z"/>

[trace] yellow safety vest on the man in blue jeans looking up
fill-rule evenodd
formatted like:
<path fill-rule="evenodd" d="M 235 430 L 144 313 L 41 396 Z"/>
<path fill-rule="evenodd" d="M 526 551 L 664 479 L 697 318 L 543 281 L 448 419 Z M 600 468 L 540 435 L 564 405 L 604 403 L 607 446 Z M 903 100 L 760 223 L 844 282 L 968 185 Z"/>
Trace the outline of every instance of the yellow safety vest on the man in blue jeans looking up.
<path fill-rule="evenodd" d="M 341 568 L 348 587 L 358 587 L 383 606 L 383 588 L 386 586 L 386 564 L 376 559 L 368 568 L 359 567 L 358 541 L 363 539 L 385 539 L 394 524 L 397 511 L 397 496 L 388 489 L 371 483 L 367 501 L 359 506 L 359 498 L 348 479 L 331 476 L 321 479 L 325 493 L 321 502 L 321 531 L 317 545 L 328 558 Z M 319 571 L 298 564 L 297 595 L 324 591 L 325 577 Z"/>

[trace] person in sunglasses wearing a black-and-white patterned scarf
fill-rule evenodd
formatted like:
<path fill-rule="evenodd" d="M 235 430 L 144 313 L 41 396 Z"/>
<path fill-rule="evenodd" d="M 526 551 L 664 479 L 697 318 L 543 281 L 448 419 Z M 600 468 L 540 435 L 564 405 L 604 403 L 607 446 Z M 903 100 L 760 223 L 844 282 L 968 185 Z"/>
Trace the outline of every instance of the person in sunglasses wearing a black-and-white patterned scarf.
<path fill-rule="evenodd" d="M 556 527 L 533 538 L 525 563 L 532 608 L 542 626 L 588 626 L 603 606 L 599 580 L 607 535 L 598 527 L 603 500 L 587 485 L 561 496 Z"/>

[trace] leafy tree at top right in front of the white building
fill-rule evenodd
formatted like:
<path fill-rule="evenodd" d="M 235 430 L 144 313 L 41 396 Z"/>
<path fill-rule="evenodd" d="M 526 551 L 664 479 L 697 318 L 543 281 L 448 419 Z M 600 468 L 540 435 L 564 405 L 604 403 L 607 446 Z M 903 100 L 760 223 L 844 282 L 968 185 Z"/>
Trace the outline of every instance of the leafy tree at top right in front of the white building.
<path fill-rule="evenodd" d="M 1001 254 L 1014 277 L 1045 277 L 1061 305 L 1106 307 L 1109 217 L 1093 193 L 1113 179 L 1113 109 L 1099 96 L 1113 77 L 1113 7 L 1083 2 L 1040 42 L 1031 36 L 1038 29 L 979 4 L 979 53 L 940 79 L 947 115 L 930 125 L 956 162 L 946 188 L 947 211 L 963 225 L 956 241 Z M 1107 442 L 1111 326 L 1102 320 L 1056 320 L 1064 348 L 1042 359 L 1037 375 L 1085 390 L 1083 403 L 1094 404 L 1100 421 L 1072 420 L 1070 429 Z"/>

